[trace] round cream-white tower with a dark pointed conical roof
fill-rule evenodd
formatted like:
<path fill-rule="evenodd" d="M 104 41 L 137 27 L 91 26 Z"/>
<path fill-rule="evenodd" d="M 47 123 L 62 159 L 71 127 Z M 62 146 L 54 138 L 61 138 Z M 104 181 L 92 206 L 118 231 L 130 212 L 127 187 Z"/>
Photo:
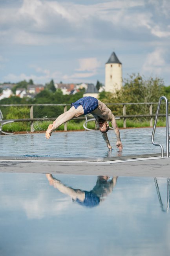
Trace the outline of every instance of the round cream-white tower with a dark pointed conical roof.
<path fill-rule="evenodd" d="M 105 91 L 115 93 L 122 87 L 122 63 L 115 52 L 105 64 Z"/>

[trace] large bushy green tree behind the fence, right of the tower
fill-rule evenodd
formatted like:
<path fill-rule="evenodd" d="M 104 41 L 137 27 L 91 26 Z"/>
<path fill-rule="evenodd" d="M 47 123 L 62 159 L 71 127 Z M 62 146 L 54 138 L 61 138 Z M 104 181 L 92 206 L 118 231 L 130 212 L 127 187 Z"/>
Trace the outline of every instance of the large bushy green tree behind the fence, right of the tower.
<path fill-rule="evenodd" d="M 116 94 L 102 92 L 99 99 L 104 103 L 158 102 L 162 95 L 165 95 L 165 85 L 161 78 L 146 79 L 140 74 L 132 74 Z M 122 106 L 110 105 L 110 108 L 116 115 L 122 115 Z M 126 114 L 143 114 L 147 113 L 146 109 L 147 105 L 126 105 Z"/>

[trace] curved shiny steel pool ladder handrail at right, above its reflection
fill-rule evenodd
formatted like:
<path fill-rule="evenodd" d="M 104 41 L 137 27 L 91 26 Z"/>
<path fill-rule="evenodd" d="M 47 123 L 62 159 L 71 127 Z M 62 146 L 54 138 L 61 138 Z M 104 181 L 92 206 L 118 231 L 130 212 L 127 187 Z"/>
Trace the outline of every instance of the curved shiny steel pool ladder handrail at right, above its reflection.
<path fill-rule="evenodd" d="M 161 157 L 164 157 L 164 150 L 163 150 L 163 145 L 159 144 L 159 143 L 155 143 L 154 142 L 154 135 L 155 135 L 155 129 L 156 129 L 156 124 L 157 124 L 157 119 L 158 119 L 158 115 L 159 115 L 159 110 L 160 110 L 160 106 L 161 106 L 161 101 L 165 100 L 166 103 L 166 157 L 169 157 L 169 142 L 170 142 L 170 137 L 169 137 L 169 124 L 168 124 L 168 99 L 165 96 L 162 96 L 161 98 L 159 98 L 159 102 L 157 105 L 157 111 L 156 111 L 156 115 L 155 115 L 155 122 L 154 122 L 154 127 L 153 127 L 153 131 L 152 131 L 152 137 L 151 137 L 151 141 L 152 144 L 155 146 L 159 146 L 161 147 Z"/>

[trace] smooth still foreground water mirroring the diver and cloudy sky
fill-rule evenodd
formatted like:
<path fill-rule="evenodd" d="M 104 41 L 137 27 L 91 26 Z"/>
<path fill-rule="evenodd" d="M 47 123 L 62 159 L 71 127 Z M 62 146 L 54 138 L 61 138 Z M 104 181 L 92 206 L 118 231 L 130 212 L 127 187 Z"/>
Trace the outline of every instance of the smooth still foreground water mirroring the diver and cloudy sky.
<path fill-rule="evenodd" d="M 166 178 L 48 178 L 0 173 L 0 255 L 170 255 Z M 100 202 L 80 205 L 66 188 Z"/>

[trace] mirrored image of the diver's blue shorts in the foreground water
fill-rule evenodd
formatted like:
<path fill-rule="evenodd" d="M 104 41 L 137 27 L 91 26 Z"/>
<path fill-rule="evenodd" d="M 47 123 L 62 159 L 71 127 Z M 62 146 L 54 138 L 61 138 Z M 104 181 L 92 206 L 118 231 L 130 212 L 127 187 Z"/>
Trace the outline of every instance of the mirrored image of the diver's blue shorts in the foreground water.
<path fill-rule="evenodd" d="M 100 198 L 97 197 L 95 193 L 92 191 L 84 191 L 85 192 L 85 198 L 84 201 L 81 202 L 78 198 L 76 199 L 76 202 L 78 204 L 81 204 L 82 206 L 88 206 L 88 207 L 94 207 L 97 206 L 100 203 Z"/>

